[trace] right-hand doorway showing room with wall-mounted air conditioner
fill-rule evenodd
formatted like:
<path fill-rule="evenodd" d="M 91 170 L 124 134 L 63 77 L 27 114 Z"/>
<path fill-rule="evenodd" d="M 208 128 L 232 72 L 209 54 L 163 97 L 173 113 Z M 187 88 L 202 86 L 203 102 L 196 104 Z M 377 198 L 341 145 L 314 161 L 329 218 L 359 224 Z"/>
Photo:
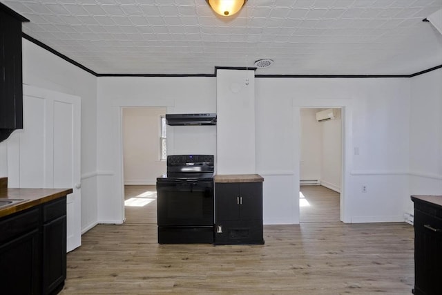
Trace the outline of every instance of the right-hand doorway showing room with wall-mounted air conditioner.
<path fill-rule="evenodd" d="M 300 222 L 339 222 L 341 108 L 300 108 Z"/>

